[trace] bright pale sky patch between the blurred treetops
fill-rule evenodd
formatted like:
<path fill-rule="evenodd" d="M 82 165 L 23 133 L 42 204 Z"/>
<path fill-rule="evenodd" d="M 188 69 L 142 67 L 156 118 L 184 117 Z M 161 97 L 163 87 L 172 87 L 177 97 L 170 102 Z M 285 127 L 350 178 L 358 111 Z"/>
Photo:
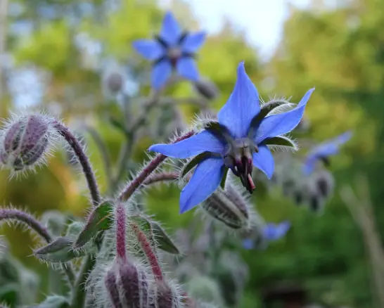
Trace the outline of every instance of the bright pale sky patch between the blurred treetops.
<path fill-rule="evenodd" d="M 172 0 L 159 0 L 170 6 Z M 284 20 L 288 17 L 288 1 L 305 8 L 310 0 L 186 0 L 191 5 L 202 28 L 217 32 L 223 18 L 229 18 L 245 31 L 250 43 L 267 59 L 279 44 Z"/>

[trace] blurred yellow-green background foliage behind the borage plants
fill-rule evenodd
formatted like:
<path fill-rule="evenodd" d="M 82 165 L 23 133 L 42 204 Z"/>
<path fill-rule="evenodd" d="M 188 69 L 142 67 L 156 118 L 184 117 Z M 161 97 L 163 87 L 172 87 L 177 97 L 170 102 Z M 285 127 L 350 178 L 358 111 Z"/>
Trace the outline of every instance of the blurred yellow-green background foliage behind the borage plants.
<path fill-rule="evenodd" d="M 18 13 L 8 17 L 10 31 L 6 50 L 14 56 L 16 65 L 32 64 L 49 72 L 49 86 L 41 105 L 49 110 L 53 102 L 59 104 L 65 121 L 91 119 L 92 126 L 107 142 L 113 160 L 117 160 L 123 136 L 105 125 L 103 108 L 108 105 L 105 106 L 102 94 L 100 72 L 95 70 L 99 59 L 77 48 L 75 36 L 87 34 L 89 39 L 101 42 L 103 57 L 130 63 L 134 72 L 147 72 L 150 65 L 132 51 L 131 43 L 157 32 L 163 11 L 155 1 L 124 0 L 117 10 L 108 6 L 112 2 L 11 1 L 10 8 Z M 93 9 L 85 9 L 86 6 Z M 381 234 L 384 234 L 383 10 L 383 0 L 354 0 L 345 6 L 316 6 L 308 11 L 291 8 L 281 44 L 267 63 L 260 60 L 257 50 L 244 35 L 227 23 L 221 32 L 208 37 L 198 56 L 200 72 L 212 79 L 221 91 L 212 105 L 215 109 L 228 98 L 240 60 L 245 60 L 250 78 L 265 98 L 274 94 L 292 95 L 292 101 L 297 102 L 307 89 L 316 86 L 307 108 L 312 124 L 310 136 L 322 141 L 347 129 L 354 131 L 354 138 L 343 153 L 333 158 L 332 170 L 337 187 L 349 183 L 357 172 L 368 175 Z M 198 27 L 186 4 L 175 4 L 174 13 L 181 23 L 193 29 Z M 20 23 L 27 24 L 29 30 L 12 30 L 13 25 Z M 141 91 L 148 94 L 148 86 L 143 86 Z M 191 94 L 191 89 L 182 84 L 172 92 L 184 97 Z M 5 91 L 1 99 L 1 116 L 8 117 L 12 97 Z M 95 110 L 98 111 L 95 113 Z M 184 107 L 182 110 L 187 121 L 196 111 Z M 145 158 L 143 151 L 151 142 L 148 134 L 141 139 L 134 156 L 138 162 Z M 87 143 L 105 191 L 101 156 L 92 141 Z M 8 172 L 0 173 L 3 204 L 24 207 L 38 214 L 46 210 L 84 214 L 89 207 L 84 187 L 81 175 L 68 164 L 61 150 L 49 160 L 49 167 L 26 179 L 9 181 Z M 149 212 L 169 228 L 184 226 L 193 213 L 179 216 L 178 198 L 176 186 L 151 188 Z M 337 193 L 320 217 L 295 207 L 277 192 L 256 194 L 255 205 L 256 200 L 257 210 L 266 220 L 290 219 L 293 228 L 286 239 L 270 245 L 267 250 L 243 252 L 250 268 L 243 307 L 255 307 L 264 286 L 284 281 L 307 285 L 317 302 L 372 307 L 369 264 L 361 234 Z M 6 227 L 1 230 L 12 244 L 11 251 L 25 266 L 48 273 L 32 257 L 26 257 L 34 245 L 30 236 Z M 41 294 L 46 290 L 43 282 Z"/>

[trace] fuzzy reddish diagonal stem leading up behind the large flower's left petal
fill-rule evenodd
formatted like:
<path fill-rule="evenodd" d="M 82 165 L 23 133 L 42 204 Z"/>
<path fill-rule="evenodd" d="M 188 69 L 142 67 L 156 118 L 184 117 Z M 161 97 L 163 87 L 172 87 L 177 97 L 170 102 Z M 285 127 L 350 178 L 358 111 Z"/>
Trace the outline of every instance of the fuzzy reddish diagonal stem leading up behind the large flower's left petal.
<path fill-rule="evenodd" d="M 193 136 L 193 134 L 194 134 L 193 131 L 188 131 L 186 134 L 177 138 L 174 141 L 174 143 L 187 139 Z M 131 181 L 126 188 L 124 188 L 124 190 L 120 193 L 118 199 L 121 201 L 128 200 L 132 196 L 132 194 L 136 191 L 136 189 L 139 188 L 141 184 L 143 184 L 144 181 L 146 181 L 146 179 L 151 175 L 151 173 L 155 171 L 155 169 L 159 167 L 161 163 L 164 162 L 166 159 L 167 159 L 167 156 L 162 154 L 155 156 L 155 158 L 153 158 L 151 162 L 148 162 L 148 165 L 146 165 L 146 167 L 144 167 L 143 170 L 141 170 L 139 175 L 133 181 Z"/>

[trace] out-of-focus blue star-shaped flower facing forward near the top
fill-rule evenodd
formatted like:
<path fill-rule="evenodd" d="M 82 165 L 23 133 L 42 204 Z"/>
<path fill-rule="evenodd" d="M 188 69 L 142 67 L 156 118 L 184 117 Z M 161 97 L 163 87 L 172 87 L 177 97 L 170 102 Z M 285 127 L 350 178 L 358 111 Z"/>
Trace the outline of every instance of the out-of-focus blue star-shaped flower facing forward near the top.
<path fill-rule="evenodd" d="M 154 89 L 165 85 L 172 71 L 186 79 L 197 81 L 198 70 L 194 56 L 205 41 L 205 32 L 183 32 L 171 12 L 165 14 L 162 29 L 155 39 L 134 41 L 134 49 L 153 61 L 151 84 Z"/>

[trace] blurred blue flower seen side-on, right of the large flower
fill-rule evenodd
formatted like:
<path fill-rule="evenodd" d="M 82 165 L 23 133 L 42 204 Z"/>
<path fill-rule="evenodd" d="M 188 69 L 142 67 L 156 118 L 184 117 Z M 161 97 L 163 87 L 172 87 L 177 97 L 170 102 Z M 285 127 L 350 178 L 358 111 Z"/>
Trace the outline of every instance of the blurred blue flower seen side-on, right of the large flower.
<path fill-rule="evenodd" d="M 338 154 L 340 146 L 343 146 L 343 144 L 349 141 L 351 137 L 352 132 L 346 131 L 344 134 L 314 147 L 307 154 L 307 158 L 302 166 L 302 172 L 305 175 L 311 174 L 314 171 L 317 160 L 323 160 L 328 163 L 328 157 Z"/>

